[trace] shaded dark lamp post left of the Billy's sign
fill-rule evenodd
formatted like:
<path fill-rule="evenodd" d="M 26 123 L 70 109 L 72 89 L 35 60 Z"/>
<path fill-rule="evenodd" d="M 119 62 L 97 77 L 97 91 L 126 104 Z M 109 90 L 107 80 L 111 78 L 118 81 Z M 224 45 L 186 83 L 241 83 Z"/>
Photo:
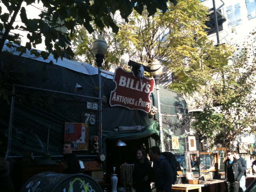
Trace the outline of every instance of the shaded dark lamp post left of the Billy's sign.
<path fill-rule="evenodd" d="M 93 42 L 92 50 L 95 54 L 96 63 L 98 66 L 98 78 L 99 78 L 99 84 L 98 84 L 98 90 L 99 90 L 99 133 L 100 133 L 100 139 L 99 139 L 99 147 L 100 151 L 102 150 L 102 96 L 101 96 L 101 66 L 105 57 L 105 54 L 108 50 L 108 44 L 103 38 L 103 35 L 100 33 L 98 36 L 98 39 L 96 39 Z"/>

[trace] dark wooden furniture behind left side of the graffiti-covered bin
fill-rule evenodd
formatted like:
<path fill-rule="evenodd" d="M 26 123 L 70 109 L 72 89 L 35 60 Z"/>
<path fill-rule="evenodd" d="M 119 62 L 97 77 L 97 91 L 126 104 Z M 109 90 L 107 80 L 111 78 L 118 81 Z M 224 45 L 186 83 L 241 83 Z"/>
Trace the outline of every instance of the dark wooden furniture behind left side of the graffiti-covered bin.
<path fill-rule="evenodd" d="M 12 182 L 15 191 L 20 191 L 22 186 L 35 174 L 45 171 L 58 171 L 58 164 L 20 164 L 12 165 Z"/>

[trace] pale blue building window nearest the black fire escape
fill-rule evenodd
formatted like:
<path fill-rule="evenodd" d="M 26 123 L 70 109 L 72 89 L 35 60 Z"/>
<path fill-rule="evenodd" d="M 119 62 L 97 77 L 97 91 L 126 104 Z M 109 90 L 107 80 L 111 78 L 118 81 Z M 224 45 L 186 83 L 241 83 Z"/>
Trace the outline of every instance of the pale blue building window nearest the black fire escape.
<path fill-rule="evenodd" d="M 227 7 L 228 27 L 234 27 L 242 24 L 240 3 Z"/>

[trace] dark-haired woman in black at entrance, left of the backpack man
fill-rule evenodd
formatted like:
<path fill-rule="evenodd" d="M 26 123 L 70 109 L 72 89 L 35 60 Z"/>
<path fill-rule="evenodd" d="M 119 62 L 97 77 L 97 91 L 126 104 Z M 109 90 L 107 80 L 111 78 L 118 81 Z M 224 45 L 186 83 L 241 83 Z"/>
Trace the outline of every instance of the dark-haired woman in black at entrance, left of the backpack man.
<path fill-rule="evenodd" d="M 132 172 L 133 188 L 136 192 L 150 192 L 150 183 L 154 178 L 153 168 L 143 149 L 138 149 Z"/>

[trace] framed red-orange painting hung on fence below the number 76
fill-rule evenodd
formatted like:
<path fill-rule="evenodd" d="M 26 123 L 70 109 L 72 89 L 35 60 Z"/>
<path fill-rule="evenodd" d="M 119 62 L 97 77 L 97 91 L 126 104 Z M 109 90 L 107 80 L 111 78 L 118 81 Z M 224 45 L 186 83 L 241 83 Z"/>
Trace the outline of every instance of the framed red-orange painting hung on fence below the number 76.
<path fill-rule="evenodd" d="M 74 150 L 88 150 L 88 124 L 65 123 L 64 141 L 74 143 Z"/>

